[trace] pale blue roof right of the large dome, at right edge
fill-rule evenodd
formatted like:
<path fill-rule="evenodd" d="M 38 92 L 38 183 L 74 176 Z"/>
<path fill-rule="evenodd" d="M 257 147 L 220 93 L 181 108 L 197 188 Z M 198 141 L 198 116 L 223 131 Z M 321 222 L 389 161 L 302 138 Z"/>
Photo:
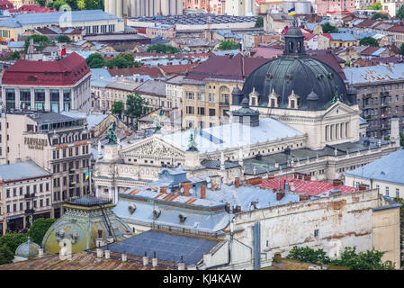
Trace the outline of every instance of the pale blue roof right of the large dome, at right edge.
<path fill-rule="evenodd" d="M 393 66 L 350 67 L 344 69 L 346 79 L 351 84 L 369 84 L 374 82 L 397 81 L 404 77 L 404 63 Z M 352 80 L 351 80 L 352 79 Z"/>

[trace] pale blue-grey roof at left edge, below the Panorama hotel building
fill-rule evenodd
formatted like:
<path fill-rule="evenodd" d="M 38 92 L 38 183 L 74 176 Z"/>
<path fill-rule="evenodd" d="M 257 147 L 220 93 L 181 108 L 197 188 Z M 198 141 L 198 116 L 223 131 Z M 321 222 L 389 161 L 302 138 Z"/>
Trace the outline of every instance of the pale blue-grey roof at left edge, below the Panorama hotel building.
<path fill-rule="evenodd" d="M 33 161 L 0 165 L 0 178 L 2 178 L 4 182 L 49 175 L 50 174 L 45 169 L 36 165 Z"/>

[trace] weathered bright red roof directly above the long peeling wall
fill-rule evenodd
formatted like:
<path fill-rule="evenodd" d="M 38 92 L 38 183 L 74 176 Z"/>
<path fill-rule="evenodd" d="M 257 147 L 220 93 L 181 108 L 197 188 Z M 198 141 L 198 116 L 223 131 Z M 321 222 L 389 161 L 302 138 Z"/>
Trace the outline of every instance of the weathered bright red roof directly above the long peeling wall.
<path fill-rule="evenodd" d="M 312 196 L 317 196 L 320 193 L 327 193 L 331 190 L 341 190 L 341 193 L 353 193 L 358 191 L 358 189 L 346 185 L 335 187 L 332 183 L 297 180 L 293 179 L 293 176 L 263 180 L 263 183 L 258 186 L 270 189 L 280 189 L 280 184 L 282 185 L 284 180 L 286 180 L 287 183 L 293 182 L 293 186 L 295 187 L 294 193 L 304 193 Z"/>

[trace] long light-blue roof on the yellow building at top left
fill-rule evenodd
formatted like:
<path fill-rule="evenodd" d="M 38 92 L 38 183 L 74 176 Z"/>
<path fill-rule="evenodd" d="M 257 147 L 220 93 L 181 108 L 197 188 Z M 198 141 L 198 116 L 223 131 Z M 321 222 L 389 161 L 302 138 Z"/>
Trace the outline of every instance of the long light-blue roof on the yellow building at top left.
<path fill-rule="evenodd" d="M 53 13 L 33 13 L 33 14 L 16 14 L 13 17 L 0 22 L 0 27 L 16 28 L 22 25 L 35 24 L 59 24 L 66 22 L 68 14 L 71 14 L 71 22 L 98 22 L 103 20 L 119 20 L 112 14 L 104 13 L 103 10 L 82 10 L 71 12 L 53 12 Z M 70 19 L 69 19 L 70 20 Z"/>

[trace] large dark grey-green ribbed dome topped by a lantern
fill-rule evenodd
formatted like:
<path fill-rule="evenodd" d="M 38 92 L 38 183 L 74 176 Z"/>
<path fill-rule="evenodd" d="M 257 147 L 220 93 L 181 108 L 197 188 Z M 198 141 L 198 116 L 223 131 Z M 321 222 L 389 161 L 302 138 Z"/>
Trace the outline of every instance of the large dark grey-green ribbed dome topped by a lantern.
<path fill-rule="evenodd" d="M 346 85 L 337 71 L 307 55 L 286 55 L 257 67 L 248 76 L 243 93 L 249 95 L 253 89 L 259 95 L 260 105 L 268 103 L 268 95 L 274 90 L 280 97 L 280 108 L 288 106 L 288 97 L 292 91 L 300 97 L 299 109 L 303 110 L 307 109 L 307 97 L 313 91 L 319 96 L 319 109 L 327 108 L 336 94 L 342 94 L 340 100 L 348 103 Z"/>

